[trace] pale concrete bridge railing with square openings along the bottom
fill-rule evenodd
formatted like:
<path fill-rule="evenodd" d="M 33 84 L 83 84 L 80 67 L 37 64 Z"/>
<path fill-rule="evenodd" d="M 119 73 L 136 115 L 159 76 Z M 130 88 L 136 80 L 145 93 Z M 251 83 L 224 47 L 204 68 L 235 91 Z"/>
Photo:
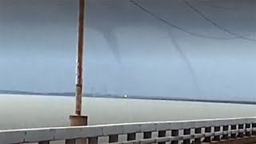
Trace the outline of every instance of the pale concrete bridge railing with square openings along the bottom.
<path fill-rule="evenodd" d="M 122 139 L 120 136 L 122 135 Z M 138 138 L 138 136 L 141 138 Z M 254 138 L 256 118 L 224 118 L 193 121 L 138 122 L 98 126 L 68 126 L 24 130 L 0 130 L 0 143 L 49 144 L 65 140 L 75 144 L 87 138 L 89 144 L 106 137 L 106 143 L 201 143 Z M 63 141 L 64 142 L 64 141 Z"/>

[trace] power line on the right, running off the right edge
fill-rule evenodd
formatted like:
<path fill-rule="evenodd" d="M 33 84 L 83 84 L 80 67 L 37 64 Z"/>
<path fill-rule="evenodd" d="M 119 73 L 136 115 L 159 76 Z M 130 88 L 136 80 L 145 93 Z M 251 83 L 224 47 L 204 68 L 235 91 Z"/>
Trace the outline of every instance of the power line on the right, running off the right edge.
<path fill-rule="evenodd" d="M 194 6 L 192 6 L 190 4 L 190 2 L 187 2 L 186 0 L 183 0 L 183 2 L 186 3 L 186 6 L 189 6 L 192 10 L 194 10 L 198 15 L 200 15 L 202 18 L 206 19 L 206 21 L 210 22 L 212 25 L 218 27 L 220 30 L 223 30 L 225 31 L 226 33 L 228 34 L 231 34 L 233 36 L 236 36 L 237 38 L 242 38 L 244 40 L 247 40 L 247 41 L 252 41 L 252 42 L 256 42 L 256 40 L 254 39 L 251 39 L 251 38 L 245 38 L 241 35 L 238 35 L 238 34 L 234 34 L 233 32 L 231 32 L 230 30 L 226 30 L 226 28 L 222 27 L 222 26 L 219 26 L 216 22 L 212 21 L 210 18 L 206 17 L 205 14 L 202 14 L 198 9 L 196 9 Z"/>

